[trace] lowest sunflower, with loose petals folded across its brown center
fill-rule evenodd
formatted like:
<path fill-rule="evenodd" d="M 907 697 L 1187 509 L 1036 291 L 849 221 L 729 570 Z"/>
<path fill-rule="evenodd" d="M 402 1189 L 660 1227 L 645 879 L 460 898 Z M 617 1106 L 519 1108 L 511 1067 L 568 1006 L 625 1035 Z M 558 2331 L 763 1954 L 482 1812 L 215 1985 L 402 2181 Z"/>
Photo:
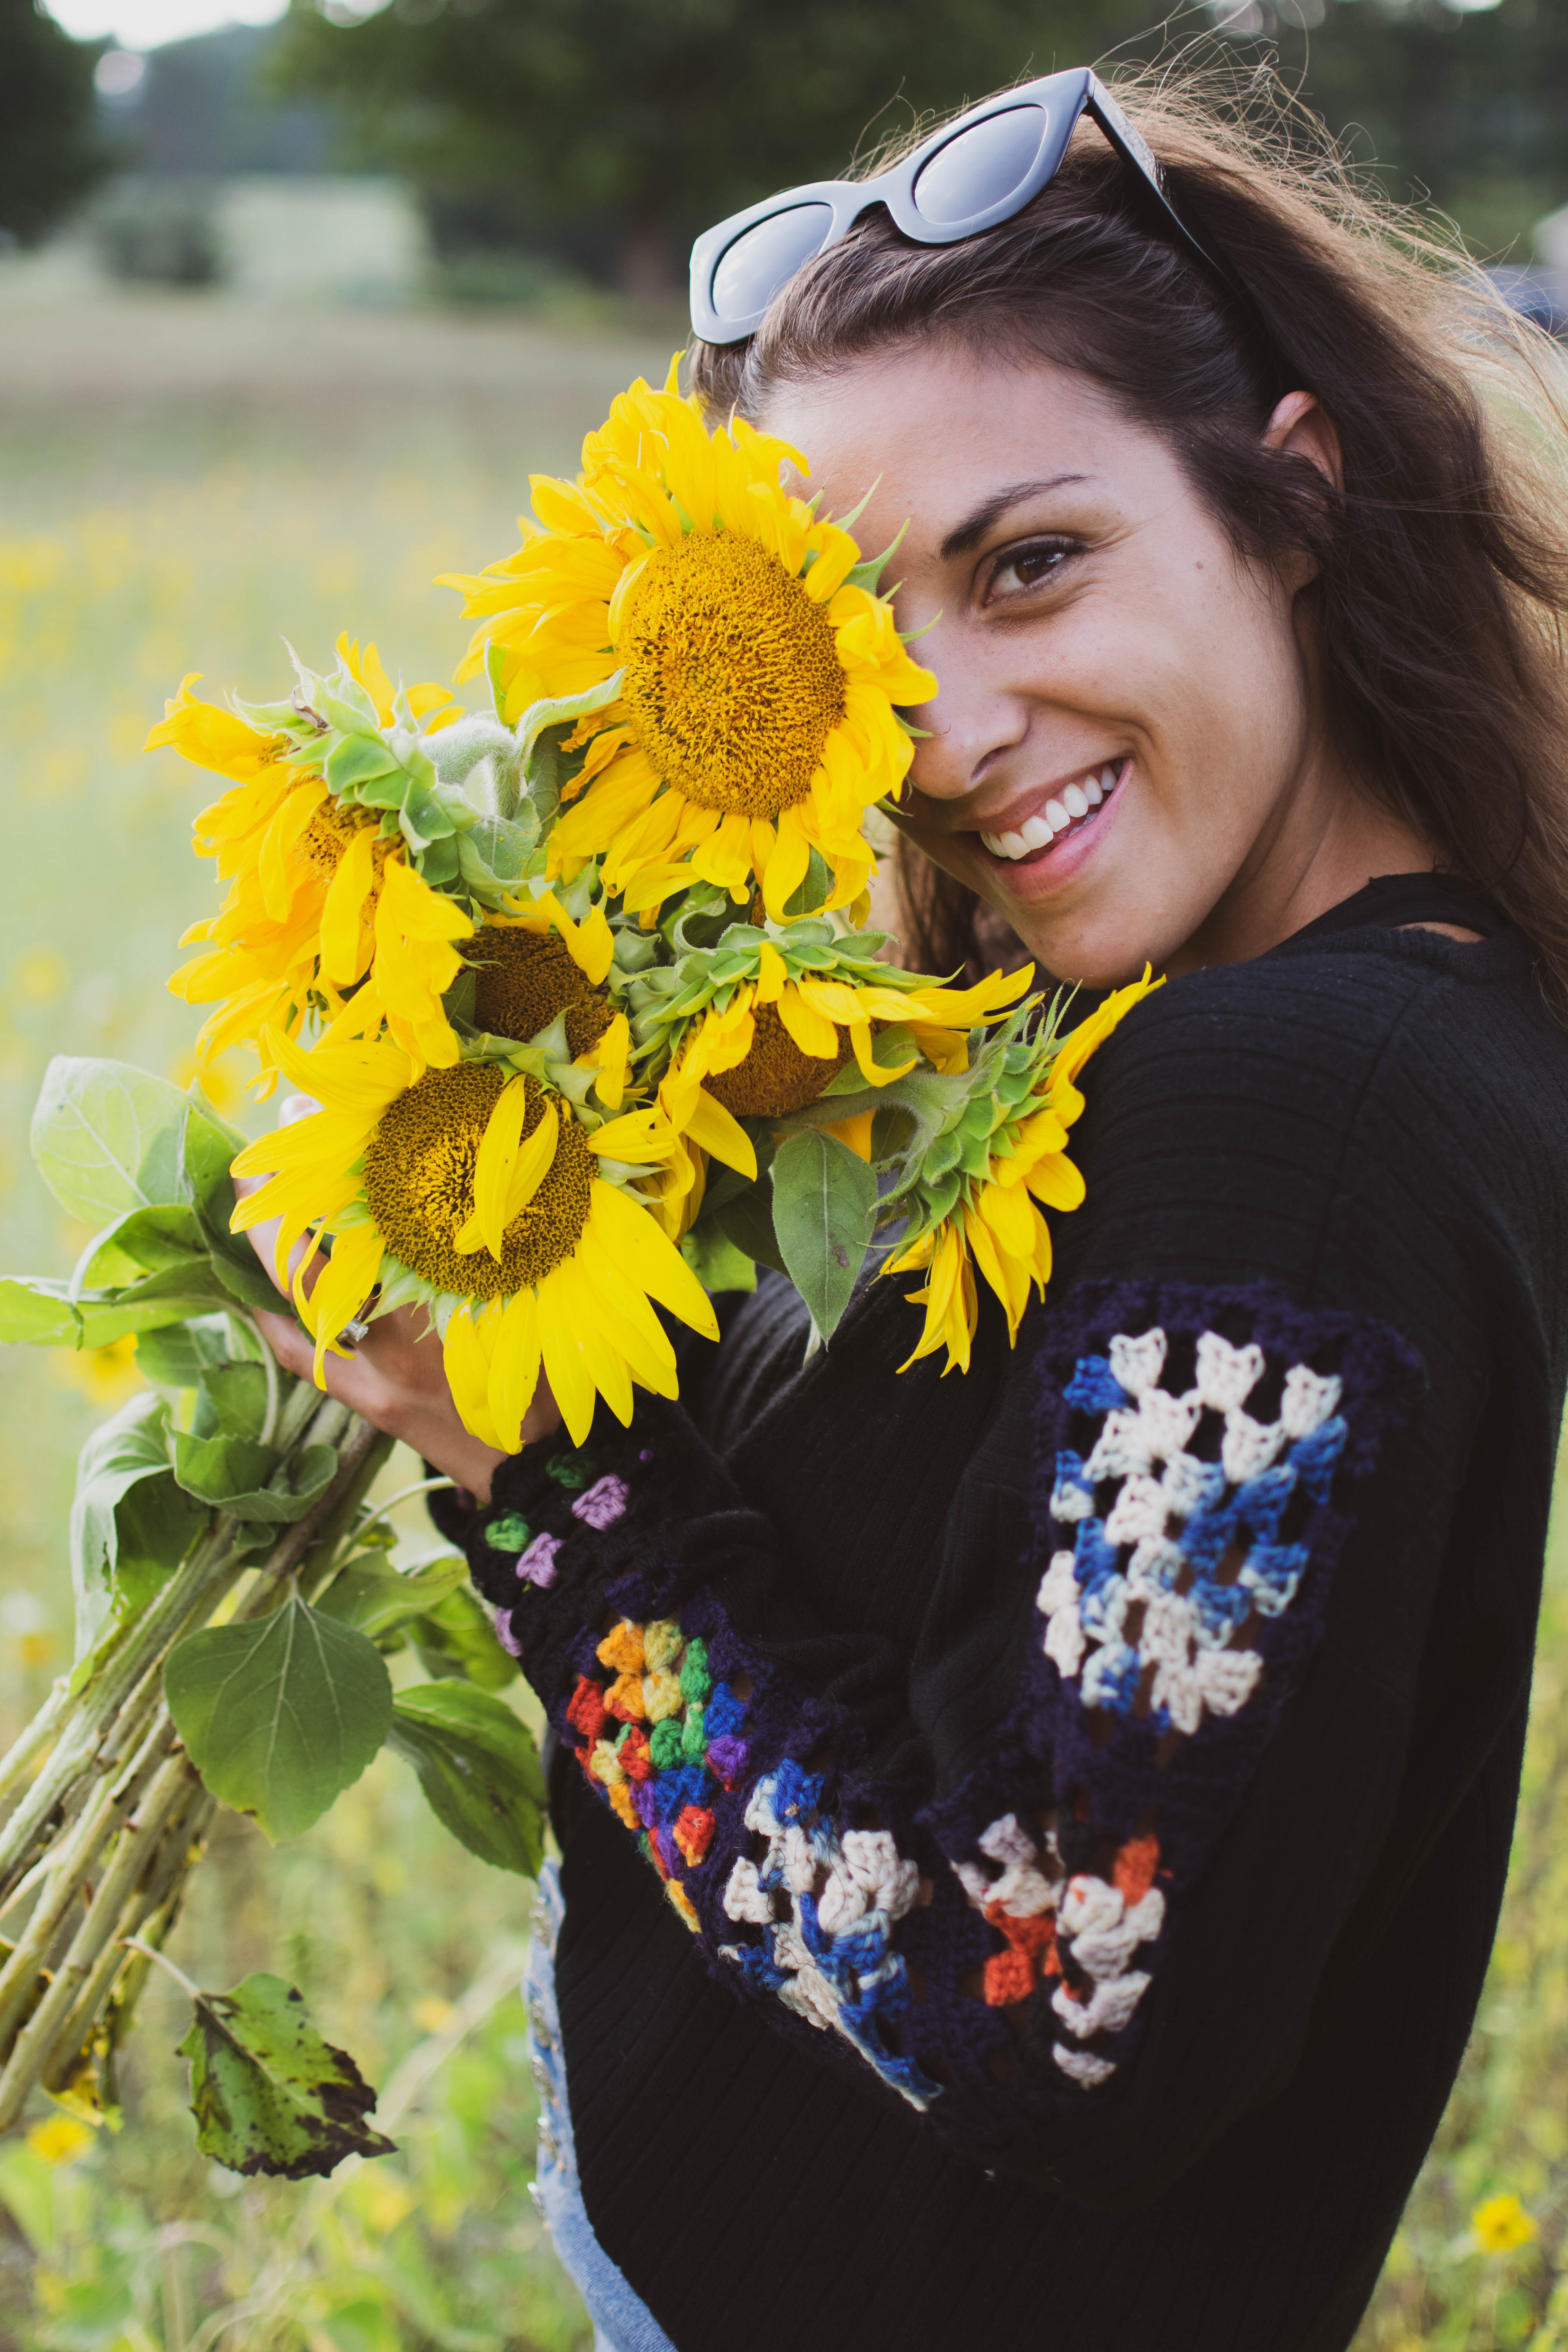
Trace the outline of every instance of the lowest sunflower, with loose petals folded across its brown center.
<path fill-rule="evenodd" d="M 675 1395 L 675 1350 L 651 1301 L 717 1338 L 708 1294 L 632 1190 L 675 1148 L 656 1108 L 590 1127 L 529 1073 L 491 1061 L 421 1073 L 390 1040 L 306 1054 L 275 1037 L 273 1051 L 322 1110 L 240 1152 L 237 1176 L 270 1181 L 233 1223 L 280 1218 L 280 1275 L 310 1232 L 294 1298 L 317 1383 L 346 1322 L 423 1303 L 475 1437 L 517 1451 L 543 1364 L 581 1444 L 595 1395 L 623 1423 L 632 1381 Z M 327 1237 L 331 1256 L 306 1296 Z"/>

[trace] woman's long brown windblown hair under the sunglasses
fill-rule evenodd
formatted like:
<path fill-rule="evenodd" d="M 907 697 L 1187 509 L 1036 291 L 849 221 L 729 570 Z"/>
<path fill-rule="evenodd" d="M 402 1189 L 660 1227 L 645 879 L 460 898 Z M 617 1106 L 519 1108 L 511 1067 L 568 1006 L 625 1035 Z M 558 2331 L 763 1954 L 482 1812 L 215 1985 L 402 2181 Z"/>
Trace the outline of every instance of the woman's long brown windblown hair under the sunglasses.
<path fill-rule="evenodd" d="M 1288 99 L 1253 85 L 1237 103 L 1199 73 L 1114 87 L 1244 299 L 1159 235 L 1081 125 L 1025 212 L 959 245 L 910 245 L 872 207 L 748 343 L 693 346 L 693 390 L 755 416 L 778 383 L 933 336 L 1103 383 L 1246 557 L 1312 557 L 1302 597 L 1342 755 L 1535 941 L 1568 1018 L 1561 355 L 1458 242 L 1359 186 Z M 1342 492 L 1262 445 L 1286 390 L 1333 419 Z M 961 884 L 905 866 L 903 898 L 926 969 L 994 960 Z"/>

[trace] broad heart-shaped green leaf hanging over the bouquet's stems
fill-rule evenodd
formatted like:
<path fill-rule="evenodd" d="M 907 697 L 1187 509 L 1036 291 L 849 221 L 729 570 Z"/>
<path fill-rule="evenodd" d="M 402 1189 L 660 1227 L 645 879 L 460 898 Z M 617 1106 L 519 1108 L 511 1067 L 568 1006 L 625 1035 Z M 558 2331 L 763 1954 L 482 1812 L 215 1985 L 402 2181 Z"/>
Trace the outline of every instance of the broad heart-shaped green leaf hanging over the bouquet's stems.
<path fill-rule="evenodd" d="M 273 1616 L 179 1642 L 165 1698 L 212 1795 L 254 1813 L 273 1844 L 322 1818 L 393 1722 L 376 1644 L 296 1592 Z"/>

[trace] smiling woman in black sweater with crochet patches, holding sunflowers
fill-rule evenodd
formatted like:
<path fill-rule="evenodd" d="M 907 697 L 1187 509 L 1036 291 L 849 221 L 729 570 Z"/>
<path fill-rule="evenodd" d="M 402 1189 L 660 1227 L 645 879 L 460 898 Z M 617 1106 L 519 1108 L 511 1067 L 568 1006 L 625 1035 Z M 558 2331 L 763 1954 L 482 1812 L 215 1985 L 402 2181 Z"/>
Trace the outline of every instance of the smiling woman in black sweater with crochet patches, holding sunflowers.
<path fill-rule="evenodd" d="M 329 1376 L 465 1489 L 559 1733 L 548 2176 L 621 2347 L 1342 2347 L 1486 1969 L 1568 1374 L 1568 562 L 1474 383 L 1540 437 L 1549 362 L 1321 155 L 1131 113 L 1168 209 L 1081 122 L 693 355 L 863 546 L 907 520 L 912 957 L 983 903 L 1168 974 L 1048 1301 L 940 1381 L 900 1284 L 802 1362 L 764 1277 L 679 1406 L 571 1449 L 541 1397 L 512 1458 L 395 1319 Z M 574 1762 L 677 1653 L 646 1712 L 731 1740 L 698 1952 Z"/>

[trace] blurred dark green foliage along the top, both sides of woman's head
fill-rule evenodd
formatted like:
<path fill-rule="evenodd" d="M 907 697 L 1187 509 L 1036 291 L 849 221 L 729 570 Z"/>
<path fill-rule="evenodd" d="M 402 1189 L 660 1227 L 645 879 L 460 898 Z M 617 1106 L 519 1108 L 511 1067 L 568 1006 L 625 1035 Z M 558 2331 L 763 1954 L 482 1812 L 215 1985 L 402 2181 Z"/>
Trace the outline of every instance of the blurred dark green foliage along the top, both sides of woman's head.
<path fill-rule="evenodd" d="M 447 247 L 538 242 L 658 292 L 708 221 L 926 111 L 1194 40 L 1241 92 L 1274 56 L 1488 249 L 1568 195 L 1568 0 L 1213 0 L 1154 33 L 1138 0 L 294 0 L 275 71 L 418 179 Z"/>

